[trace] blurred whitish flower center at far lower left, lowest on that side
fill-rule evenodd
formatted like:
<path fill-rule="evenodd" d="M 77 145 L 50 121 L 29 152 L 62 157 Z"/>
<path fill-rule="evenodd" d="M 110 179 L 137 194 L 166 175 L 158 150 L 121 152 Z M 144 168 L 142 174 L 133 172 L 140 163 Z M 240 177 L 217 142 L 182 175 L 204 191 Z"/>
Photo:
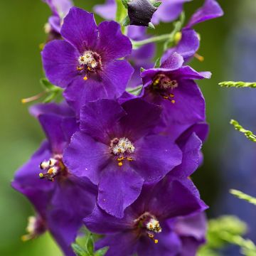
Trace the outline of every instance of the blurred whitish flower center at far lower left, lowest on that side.
<path fill-rule="evenodd" d="M 37 238 L 38 235 L 43 234 L 46 231 L 46 225 L 43 219 L 38 216 L 30 216 L 28 218 L 28 226 L 26 228 L 28 234 L 23 235 L 21 239 L 23 241 L 31 240 L 33 238 Z"/>

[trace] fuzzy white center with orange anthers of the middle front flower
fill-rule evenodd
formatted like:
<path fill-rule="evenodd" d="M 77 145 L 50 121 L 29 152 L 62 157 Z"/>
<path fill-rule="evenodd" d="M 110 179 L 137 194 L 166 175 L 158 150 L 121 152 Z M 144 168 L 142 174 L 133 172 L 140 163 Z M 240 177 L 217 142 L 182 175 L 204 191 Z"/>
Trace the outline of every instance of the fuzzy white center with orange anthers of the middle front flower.
<path fill-rule="evenodd" d="M 133 161 L 131 154 L 134 152 L 135 147 L 132 142 L 127 138 L 112 139 L 110 143 L 110 152 L 114 156 L 117 156 L 118 165 L 122 166 L 125 159 Z"/>

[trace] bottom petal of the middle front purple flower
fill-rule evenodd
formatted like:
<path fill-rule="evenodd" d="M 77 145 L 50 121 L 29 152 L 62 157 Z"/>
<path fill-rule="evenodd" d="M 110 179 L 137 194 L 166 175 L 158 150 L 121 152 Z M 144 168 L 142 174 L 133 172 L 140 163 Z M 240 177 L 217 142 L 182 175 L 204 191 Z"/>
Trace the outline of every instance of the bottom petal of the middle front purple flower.
<path fill-rule="evenodd" d="M 144 178 L 128 164 L 122 167 L 109 164 L 100 175 L 98 204 L 117 218 L 124 217 L 124 210 L 139 196 Z"/>

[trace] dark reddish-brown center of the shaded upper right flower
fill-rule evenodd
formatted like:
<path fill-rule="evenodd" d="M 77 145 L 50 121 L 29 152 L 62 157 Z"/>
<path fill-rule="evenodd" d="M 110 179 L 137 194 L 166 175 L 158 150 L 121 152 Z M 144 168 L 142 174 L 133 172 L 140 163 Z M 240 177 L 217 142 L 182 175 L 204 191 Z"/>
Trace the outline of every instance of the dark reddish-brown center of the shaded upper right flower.
<path fill-rule="evenodd" d="M 164 74 L 158 74 L 154 77 L 154 80 L 151 84 L 151 89 L 154 92 L 161 95 L 164 100 L 169 100 L 171 103 L 175 103 L 174 93 L 170 91 L 174 90 L 174 88 L 178 87 L 177 80 L 171 80 L 169 76 Z"/>

